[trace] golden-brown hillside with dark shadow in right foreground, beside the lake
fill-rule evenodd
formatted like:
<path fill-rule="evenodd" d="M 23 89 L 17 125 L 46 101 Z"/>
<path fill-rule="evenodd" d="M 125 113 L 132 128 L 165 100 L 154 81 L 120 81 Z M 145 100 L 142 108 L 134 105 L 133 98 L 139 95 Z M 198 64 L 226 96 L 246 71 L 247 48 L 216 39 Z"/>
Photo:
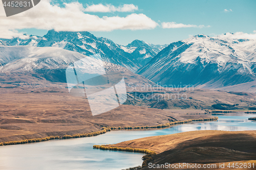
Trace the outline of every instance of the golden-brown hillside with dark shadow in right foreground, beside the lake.
<path fill-rule="evenodd" d="M 153 160 L 150 161 L 153 164 L 186 162 L 197 164 L 217 163 L 218 165 L 221 162 L 242 160 L 255 162 L 255 142 L 255 131 L 192 131 L 140 138 L 108 146 L 155 151 L 157 155 L 153 155 Z M 142 169 L 151 168 L 144 167 Z"/>

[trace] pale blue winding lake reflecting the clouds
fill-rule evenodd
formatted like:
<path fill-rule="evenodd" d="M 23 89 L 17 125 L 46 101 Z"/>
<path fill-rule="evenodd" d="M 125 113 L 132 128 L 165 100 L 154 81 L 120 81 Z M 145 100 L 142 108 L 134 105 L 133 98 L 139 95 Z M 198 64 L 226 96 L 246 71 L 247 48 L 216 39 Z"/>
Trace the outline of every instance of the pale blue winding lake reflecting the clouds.
<path fill-rule="evenodd" d="M 141 165 L 141 158 L 144 154 L 103 151 L 93 149 L 93 145 L 196 130 L 256 130 L 256 122 L 248 120 L 249 117 L 255 117 L 256 114 L 232 113 L 218 116 L 219 120 L 216 122 L 193 122 L 168 129 L 111 131 L 93 137 L 2 146 L 0 147 L 0 169 L 120 170 Z"/>

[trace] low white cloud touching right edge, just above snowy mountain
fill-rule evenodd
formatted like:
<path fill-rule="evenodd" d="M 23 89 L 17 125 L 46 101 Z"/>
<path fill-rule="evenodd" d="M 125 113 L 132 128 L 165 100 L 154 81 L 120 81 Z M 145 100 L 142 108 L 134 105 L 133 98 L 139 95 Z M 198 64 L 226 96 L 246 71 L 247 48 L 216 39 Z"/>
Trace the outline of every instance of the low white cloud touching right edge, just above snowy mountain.
<path fill-rule="evenodd" d="M 253 31 L 254 32 L 254 31 Z M 243 32 L 236 32 L 236 33 L 226 33 L 222 35 L 216 36 L 216 38 L 220 39 L 254 39 L 256 40 L 256 32 L 255 34 L 247 34 Z"/>

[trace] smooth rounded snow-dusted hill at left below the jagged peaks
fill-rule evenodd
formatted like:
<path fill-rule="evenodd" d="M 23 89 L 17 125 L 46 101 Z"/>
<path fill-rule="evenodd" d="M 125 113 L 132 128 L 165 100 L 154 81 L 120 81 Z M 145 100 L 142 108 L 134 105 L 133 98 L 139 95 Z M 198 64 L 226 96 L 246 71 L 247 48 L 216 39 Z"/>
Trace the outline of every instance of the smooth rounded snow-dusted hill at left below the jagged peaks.
<path fill-rule="evenodd" d="M 0 71 L 66 69 L 86 56 L 57 47 L 0 46 Z"/>

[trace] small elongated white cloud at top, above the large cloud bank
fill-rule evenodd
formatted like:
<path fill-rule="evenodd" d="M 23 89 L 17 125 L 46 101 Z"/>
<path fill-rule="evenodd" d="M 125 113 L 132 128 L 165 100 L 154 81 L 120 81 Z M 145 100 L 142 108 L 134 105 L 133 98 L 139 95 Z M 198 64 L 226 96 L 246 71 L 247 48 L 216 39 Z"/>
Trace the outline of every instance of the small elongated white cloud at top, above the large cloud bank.
<path fill-rule="evenodd" d="M 135 6 L 133 4 L 124 4 L 123 6 L 115 7 L 111 4 L 97 4 L 97 5 L 87 5 L 87 8 L 84 9 L 86 12 L 133 12 L 135 10 L 138 10 L 138 6 Z"/>

